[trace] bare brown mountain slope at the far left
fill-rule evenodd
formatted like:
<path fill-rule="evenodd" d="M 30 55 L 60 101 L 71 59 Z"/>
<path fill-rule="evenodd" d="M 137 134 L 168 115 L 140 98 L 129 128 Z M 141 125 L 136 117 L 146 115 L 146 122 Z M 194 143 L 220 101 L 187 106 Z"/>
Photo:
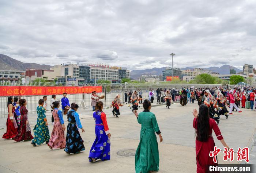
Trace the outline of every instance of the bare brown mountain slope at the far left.
<path fill-rule="evenodd" d="M 26 71 L 26 69 L 44 69 L 50 70 L 50 65 L 41 65 L 36 63 L 24 63 L 8 57 L 7 55 L 0 54 L 0 70 L 22 70 Z"/>

